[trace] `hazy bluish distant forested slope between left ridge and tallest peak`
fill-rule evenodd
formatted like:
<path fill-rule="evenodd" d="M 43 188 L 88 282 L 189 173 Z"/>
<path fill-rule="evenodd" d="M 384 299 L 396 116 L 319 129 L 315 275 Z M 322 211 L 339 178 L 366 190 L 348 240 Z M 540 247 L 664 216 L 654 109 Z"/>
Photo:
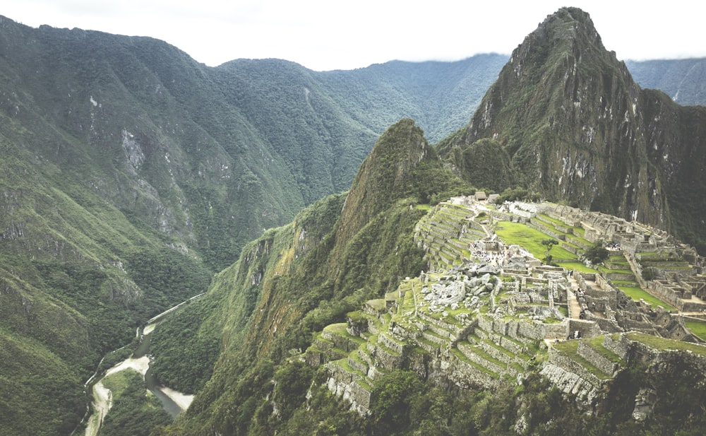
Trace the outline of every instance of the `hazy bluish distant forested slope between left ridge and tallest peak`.
<path fill-rule="evenodd" d="M 436 143 L 468 122 L 507 59 L 479 54 L 456 62 L 390 61 L 316 76 L 346 113 L 378 134 L 408 117 Z"/>

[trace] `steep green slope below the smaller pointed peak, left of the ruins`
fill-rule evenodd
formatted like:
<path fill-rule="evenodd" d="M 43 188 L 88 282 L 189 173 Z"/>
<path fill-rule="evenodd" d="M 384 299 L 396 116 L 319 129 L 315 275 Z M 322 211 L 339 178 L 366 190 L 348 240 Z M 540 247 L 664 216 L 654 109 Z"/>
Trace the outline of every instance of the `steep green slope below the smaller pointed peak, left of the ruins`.
<path fill-rule="evenodd" d="M 214 289 L 231 295 L 222 318 L 227 348 L 213 378 L 169 431 L 232 434 L 277 425 L 258 418 L 270 407 L 258 406 L 271 394 L 263 380 L 301 353 L 314 331 L 424 268 L 412 240 L 425 213 L 417 207 L 420 197 L 464 188 L 414 122 L 390 126 L 346 196 L 319 201 L 294 223 L 265 233 L 217 277 Z"/>

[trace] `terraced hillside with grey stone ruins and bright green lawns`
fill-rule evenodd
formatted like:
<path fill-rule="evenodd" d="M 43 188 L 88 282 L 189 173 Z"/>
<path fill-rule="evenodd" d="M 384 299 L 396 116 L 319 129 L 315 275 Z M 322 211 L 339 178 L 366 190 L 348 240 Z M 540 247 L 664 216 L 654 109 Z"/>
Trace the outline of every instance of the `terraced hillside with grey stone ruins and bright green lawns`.
<path fill-rule="evenodd" d="M 538 259 L 547 239 L 558 242 L 549 248 L 557 264 Z M 306 350 L 307 362 L 328 368 L 329 389 L 361 415 L 376 382 L 400 369 L 460 389 L 492 389 L 537 371 L 592 411 L 628 360 L 659 354 L 645 338 L 662 348 L 702 342 L 675 307 L 702 304 L 703 259 L 654 229 L 554 204 L 457 198 L 431 208 L 415 240 L 429 271 L 326 327 Z M 583 254 L 597 243 L 610 255 L 587 266 Z M 640 268 L 654 269 L 652 280 Z M 623 290 L 632 288 L 640 293 Z M 674 306 L 659 299 L 667 294 Z M 705 346 L 690 347 L 706 355 Z"/>

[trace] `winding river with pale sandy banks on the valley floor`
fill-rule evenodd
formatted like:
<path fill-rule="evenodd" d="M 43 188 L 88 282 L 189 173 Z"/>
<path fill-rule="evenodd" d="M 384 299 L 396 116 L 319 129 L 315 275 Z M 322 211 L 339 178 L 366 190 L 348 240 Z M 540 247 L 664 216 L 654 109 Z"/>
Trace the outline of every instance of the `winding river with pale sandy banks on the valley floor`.
<path fill-rule="evenodd" d="M 202 293 L 191 297 L 189 298 L 189 300 L 181 302 L 179 303 L 179 305 L 165 310 L 164 312 L 158 314 L 156 317 L 152 317 L 152 319 L 148 321 L 148 324 L 143 329 L 137 329 L 136 334 L 138 335 L 138 337 L 142 336 L 142 340 L 140 341 L 140 346 L 138 346 L 138 348 L 133 352 L 130 358 L 123 360 L 121 363 L 118 363 L 114 367 L 107 370 L 104 375 L 100 376 L 99 379 L 96 379 L 97 373 L 95 373 L 94 375 L 92 375 L 92 377 L 90 377 L 90 379 L 85 382 L 85 386 L 87 388 L 92 386 L 91 391 L 93 397 L 93 413 L 90 416 L 88 416 L 87 413 L 88 420 L 84 418 L 84 420 L 82 421 L 82 423 L 86 423 L 85 436 L 98 435 L 98 432 L 100 431 L 100 426 L 103 423 L 103 419 L 112 407 L 112 392 L 110 391 L 110 389 L 107 389 L 107 387 L 104 386 L 102 382 L 103 378 L 114 374 L 115 372 L 126 370 L 128 368 L 139 372 L 143 376 L 143 379 L 145 379 L 145 387 L 150 392 L 152 392 L 152 394 L 154 394 L 157 399 L 160 400 L 160 402 L 162 403 L 162 408 L 164 408 L 164 410 L 167 411 L 167 413 L 169 413 L 172 418 L 176 418 L 180 412 L 185 411 L 186 408 L 189 408 L 189 406 L 191 405 L 191 401 L 193 400 L 193 395 L 182 394 L 181 392 L 175 391 L 174 389 L 164 387 L 158 384 L 156 377 L 152 375 L 152 372 L 150 371 L 149 358 L 151 341 L 150 333 L 152 333 L 152 331 L 155 329 L 155 326 L 157 326 L 157 324 L 159 324 L 162 319 L 167 316 L 167 314 L 174 312 L 174 310 L 177 310 L 179 307 L 181 307 L 181 305 L 184 305 L 192 300 L 196 300 L 196 298 L 202 297 L 203 295 L 204 294 Z"/>

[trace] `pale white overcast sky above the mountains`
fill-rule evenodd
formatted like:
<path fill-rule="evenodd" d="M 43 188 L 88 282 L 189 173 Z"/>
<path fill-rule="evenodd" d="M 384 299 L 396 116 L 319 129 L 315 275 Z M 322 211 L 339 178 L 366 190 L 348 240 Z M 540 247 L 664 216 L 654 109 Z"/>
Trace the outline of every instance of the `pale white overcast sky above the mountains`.
<path fill-rule="evenodd" d="M 691 0 L 0 0 L 25 25 L 150 36 L 210 66 L 279 58 L 309 69 L 510 54 L 562 6 L 590 13 L 618 59 L 706 57 L 706 2 Z M 658 5 L 657 7 L 654 5 Z"/>

